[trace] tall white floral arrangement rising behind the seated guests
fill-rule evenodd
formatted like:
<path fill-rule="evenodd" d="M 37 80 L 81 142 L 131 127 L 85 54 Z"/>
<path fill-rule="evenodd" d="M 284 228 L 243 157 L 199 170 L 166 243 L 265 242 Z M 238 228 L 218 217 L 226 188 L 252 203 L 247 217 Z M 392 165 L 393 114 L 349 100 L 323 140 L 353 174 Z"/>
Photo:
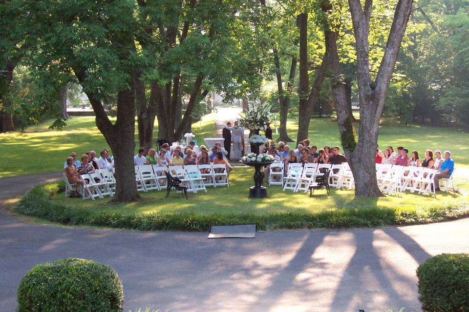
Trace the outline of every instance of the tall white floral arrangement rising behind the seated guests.
<path fill-rule="evenodd" d="M 269 103 L 261 103 L 259 100 L 249 101 L 248 111 L 241 113 L 239 122 L 251 131 L 263 131 L 274 118 L 271 109 L 272 105 Z"/>

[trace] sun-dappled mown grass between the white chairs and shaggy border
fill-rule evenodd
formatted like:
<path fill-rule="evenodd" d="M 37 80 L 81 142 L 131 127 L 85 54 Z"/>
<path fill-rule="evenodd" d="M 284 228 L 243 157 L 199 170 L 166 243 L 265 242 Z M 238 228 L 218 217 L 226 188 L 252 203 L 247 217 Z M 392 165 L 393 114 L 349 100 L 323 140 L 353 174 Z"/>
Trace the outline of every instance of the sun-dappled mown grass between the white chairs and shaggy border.
<path fill-rule="evenodd" d="M 268 198 L 248 199 L 248 189 L 252 185 L 254 170 L 250 167 L 236 167 L 230 176 L 231 186 L 208 188 L 207 193 L 189 193 L 189 200 L 171 191 L 165 198 L 166 191 L 141 193 L 142 200 L 129 204 L 106 204 L 109 198 L 83 201 L 80 198 L 66 198 L 64 194 L 53 197 L 54 201 L 107 213 L 147 214 L 147 213 L 197 213 L 197 214 L 269 214 L 283 212 L 321 212 L 342 209 L 391 208 L 398 211 L 417 211 L 443 205 L 458 204 L 467 199 L 460 194 L 439 193 L 437 198 L 429 195 L 405 193 L 402 197 L 386 196 L 382 198 L 355 197 L 353 191 L 331 189 L 331 196 L 325 190 L 315 192 L 310 198 L 309 192 L 282 192 L 280 186 L 267 186 Z"/>

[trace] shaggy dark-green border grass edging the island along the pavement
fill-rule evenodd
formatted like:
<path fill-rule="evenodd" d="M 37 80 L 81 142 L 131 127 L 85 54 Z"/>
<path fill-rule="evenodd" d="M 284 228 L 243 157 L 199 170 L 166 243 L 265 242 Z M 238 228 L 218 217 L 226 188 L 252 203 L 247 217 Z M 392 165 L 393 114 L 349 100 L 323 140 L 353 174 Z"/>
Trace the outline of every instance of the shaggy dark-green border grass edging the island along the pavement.
<path fill-rule="evenodd" d="M 387 225 L 422 224 L 469 215 L 468 206 L 447 206 L 425 211 L 394 209 L 342 209 L 317 213 L 286 212 L 271 214 L 193 214 L 149 213 L 119 214 L 97 212 L 50 200 L 61 192 L 61 183 L 37 185 L 18 204 L 23 215 L 39 217 L 68 225 L 104 226 L 142 231 L 182 230 L 210 231 L 212 225 L 256 224 L 257 229 L 307 229 L 379 227 Z"/>

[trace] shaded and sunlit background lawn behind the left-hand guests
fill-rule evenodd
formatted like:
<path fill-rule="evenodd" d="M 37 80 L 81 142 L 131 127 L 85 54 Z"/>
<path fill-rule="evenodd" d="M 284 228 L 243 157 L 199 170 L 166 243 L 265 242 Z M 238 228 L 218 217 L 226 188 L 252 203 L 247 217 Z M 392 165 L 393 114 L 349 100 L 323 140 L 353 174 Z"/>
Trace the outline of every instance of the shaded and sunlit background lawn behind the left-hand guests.
<path fill-rule="evenodd" d="M 213 137 L 215 114 L 202 118 L 192 125 L 196 138 Z M 112 121 L 115 118 L 111 118 Z M 107 148 L 107 142 L 91 116 L 73 117 L 63 131 L 49 130 L 51 120 L 31 126 L 24 132 L 0 134 L 0 178 L 43 172 L 60 171 L 70 152 L 81 154 Z M 135 126 L 137 129 L 137 126 Z M 153 136 L 156 140 L 158 124 L 155 121 Z M 135 132 L 135 149 L 138 150 L 138 134 Z M 14 159 L 14 164 L 12 164 Z"/>

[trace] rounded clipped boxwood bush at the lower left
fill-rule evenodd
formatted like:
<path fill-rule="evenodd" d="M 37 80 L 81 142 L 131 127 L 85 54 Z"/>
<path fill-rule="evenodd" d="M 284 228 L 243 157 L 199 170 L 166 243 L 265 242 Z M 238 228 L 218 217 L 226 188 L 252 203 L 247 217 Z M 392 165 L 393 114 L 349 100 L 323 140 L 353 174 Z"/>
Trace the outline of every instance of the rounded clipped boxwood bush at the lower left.
<path fill-rule="evenodd" d="M 117 273 L 91 260 L 67 258 L 35 266 L 21 279 L 19 312 L 122 312 Z"/>

